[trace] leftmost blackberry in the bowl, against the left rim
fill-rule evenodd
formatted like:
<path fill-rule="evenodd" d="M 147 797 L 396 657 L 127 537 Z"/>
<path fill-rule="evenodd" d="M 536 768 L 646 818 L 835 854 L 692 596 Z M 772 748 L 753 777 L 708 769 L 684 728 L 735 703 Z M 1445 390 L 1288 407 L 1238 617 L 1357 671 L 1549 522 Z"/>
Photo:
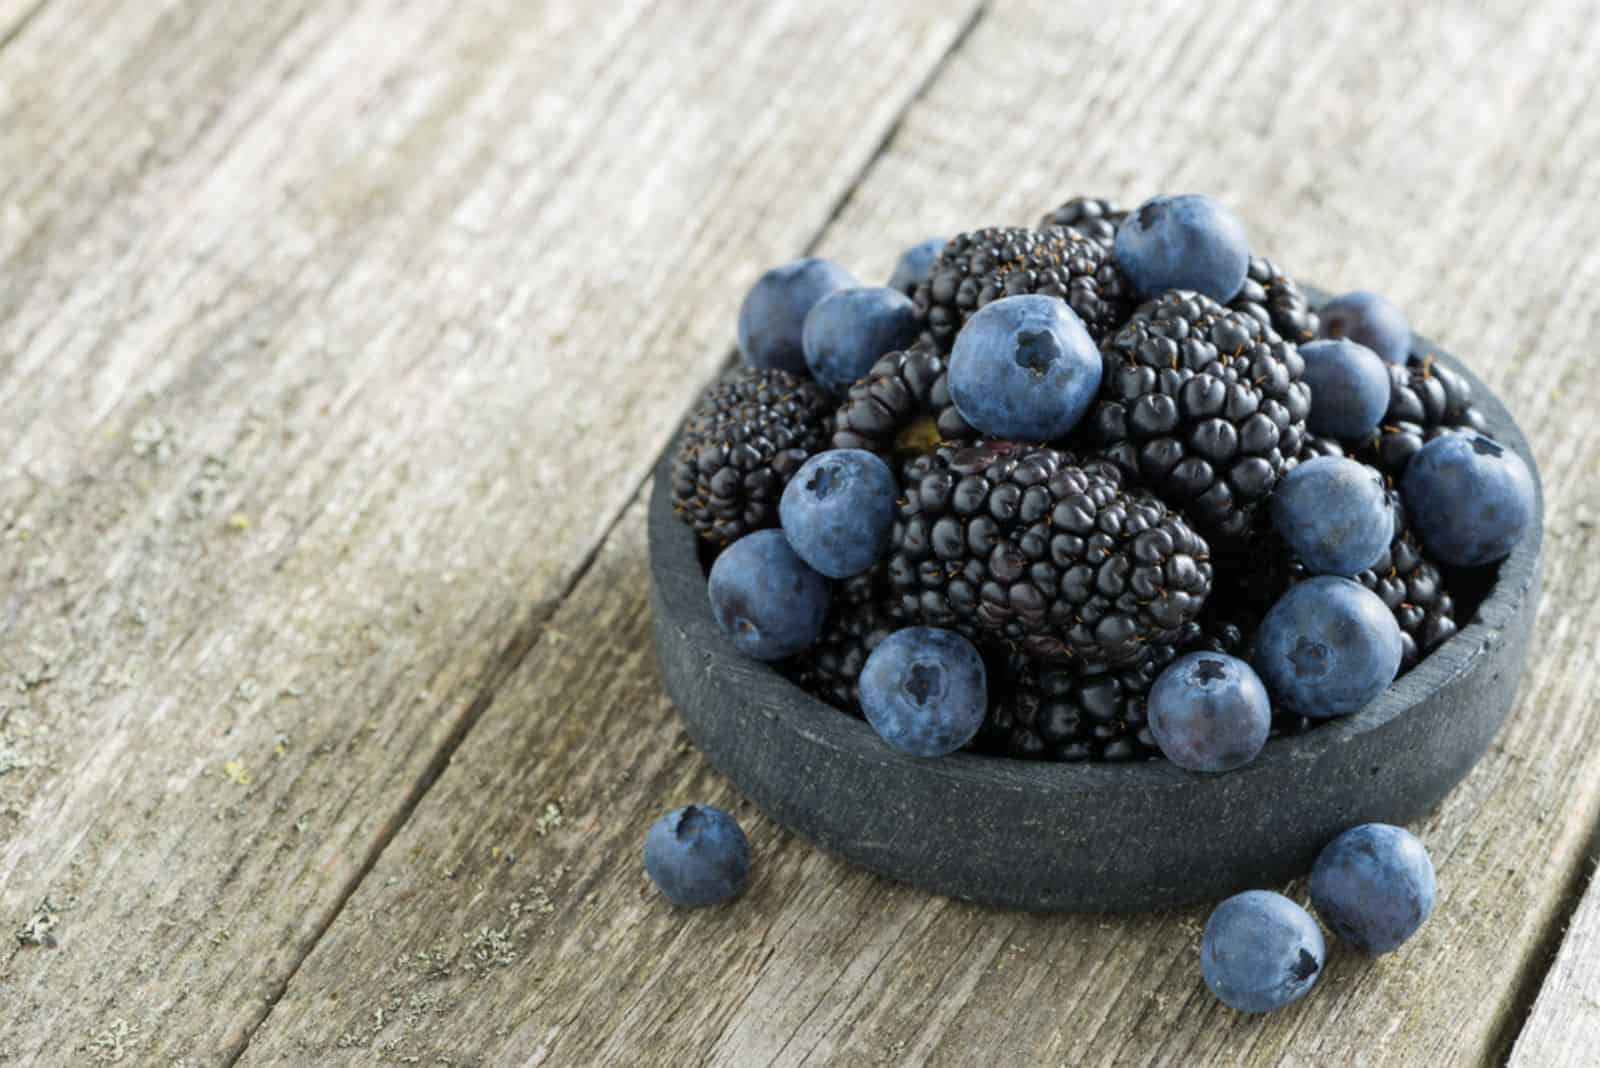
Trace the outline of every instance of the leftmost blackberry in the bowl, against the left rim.
<path fill-rule="evenodd" d="M 834 403 L 786 371 L 739 368 L 694 404 L 672 460 L 672 507 L 709 542 L 778 523 L 784 484 L 827 448 Z"/>

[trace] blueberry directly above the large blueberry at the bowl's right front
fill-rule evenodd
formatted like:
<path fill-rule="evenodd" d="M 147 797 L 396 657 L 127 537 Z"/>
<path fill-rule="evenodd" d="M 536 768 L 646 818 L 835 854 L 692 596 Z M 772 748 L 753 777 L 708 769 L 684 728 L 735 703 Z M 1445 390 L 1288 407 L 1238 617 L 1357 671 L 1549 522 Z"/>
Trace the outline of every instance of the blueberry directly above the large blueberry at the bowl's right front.
<path fill-rule="evenodd" d="M 1272 492 L 1272 524 L 1320 576 L 1366 571 L 1395 536 L 1384 476 L 1342 456 L 1318 456 L 1285 475 Z"/>

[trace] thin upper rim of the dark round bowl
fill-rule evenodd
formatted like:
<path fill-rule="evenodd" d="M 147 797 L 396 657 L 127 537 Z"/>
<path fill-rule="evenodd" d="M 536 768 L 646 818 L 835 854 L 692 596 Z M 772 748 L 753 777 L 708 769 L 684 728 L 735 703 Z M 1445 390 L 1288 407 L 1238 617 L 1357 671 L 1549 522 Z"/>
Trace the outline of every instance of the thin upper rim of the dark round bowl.
<path fill-rule="evenodd" d="M 1307 289 L 1307 293 L 1317 291 Z M 1320 297 L 1320 293 L 1317 296 Z M 1314 302 L 1322 304 L 1320 299 Z M 770 715 L 781 719 L 787 729 L 803 735 L 806 742 L 835 751 L 851 751 L 875 759 L 910 761 L 930 777 L 949 777 L 952 782 L 968 787 L 1003 787 L 1008 790 L 1022 787 L 1053 793 L 1106 788 L 1160 793 L 1192 790 L 1197 780 L 1221 782 L 1226 779 L 1242 783 L 1248 777 L 1277 775 L 1286 764 L 1318 761 L 1352 739 L 1384 727 L 1427 700 L 1435 691 L 1459 681 L 1499 641 L 1501 633 L 1518 614 L 1523 600 L 1538 582 L 1544 545 L 1544 483 L 1526 438 L 1501 400 L 1458 358 L 1421 336 L 1413 336 L 1411 349 L 1413 357 L 1432 357 L 1437 363 L 1466 377 L 1474 390 L 1474 406 L 1482 412 L 1488 433 L 1510 446 L 1528 464 L 1534 484 L 1534 512 L 1530 526 L 1512 553 L 1499 563 L 1494 582 L 1478 604 L 1475 616 L 1456 635 L 1390 683 L 1379 697 L 1360 711 L 1326 719 L 1302 734 L 1270 739 L 1254 761 L 1226 775 L 1189 772 L 1158 758 L 1128 763 L 1059 763 L 990 756 L 965 750 L 939 759 L 904 756 L 885 745 L 864 719 L 813 697 L 778 671 L 773 664 L 741 656 L 717 628 L 710 614 L 704 568 L 699 560 L 699 539 L 672 512 L 672 459 L 677 452 L 682 427 L 674 433 L 658 462 L 650 502 L 650 568 L 659 604 L 670 622 L 685 630 L 685 635 L 707 657 L 707 670 L 714 670 L 718 662 L 734 659 L 744 671 L 754 668 L 760 675 L 770 676 L 774 697 L 782 697 L 782 700 L 773 702 Z M 698 584 L 662 582 L 662 572 L 693 572 L 701 580 Z M 691 590 L 698 592 L 698 596 L 693 596 Z"/>

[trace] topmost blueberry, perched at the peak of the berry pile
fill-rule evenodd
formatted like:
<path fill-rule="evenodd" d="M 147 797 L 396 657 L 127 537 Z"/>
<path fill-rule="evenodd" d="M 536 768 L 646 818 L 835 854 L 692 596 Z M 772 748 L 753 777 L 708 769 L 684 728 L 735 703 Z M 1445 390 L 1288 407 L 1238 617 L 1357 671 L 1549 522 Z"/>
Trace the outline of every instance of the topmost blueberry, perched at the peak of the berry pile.
<path fill-rule="evenodd" d="M 1250 240 L 1232 211 L 1195 193 L 1146 200 L 1117 229 L 1117 267 L 1144 296 L 1194 289 L 1227 304 L 1250 272 Z"/>

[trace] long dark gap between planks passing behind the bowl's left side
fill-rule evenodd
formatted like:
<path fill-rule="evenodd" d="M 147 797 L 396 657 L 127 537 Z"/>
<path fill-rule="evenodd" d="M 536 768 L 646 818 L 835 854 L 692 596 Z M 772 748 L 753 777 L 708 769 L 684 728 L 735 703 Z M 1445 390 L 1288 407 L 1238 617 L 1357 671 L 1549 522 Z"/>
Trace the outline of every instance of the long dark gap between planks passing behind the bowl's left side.
<path fill-rule="evenodd" d="M 48 3 L 48 0 L 40 0 L 38 8 L 43 8 L 45 3 Z M 38 8 L 35 8 L 35 11 Z M 971 37 L 973 30 L 984 19 L 984 16 L 987 14 L 987 11 L 989 11 L 989 0 L 984 0 L 982 3 L 979 3 L 973 10 L 973 13 L 968 16 L 966 22 L 963 22 L 962 27 L 955 32 L 955 35 L 950 38 L 949 46 L 944 50 L 944 53 L 933 64 L 930 64 L 928 72 L 923 75 L 922 82 L 917 85 L 915 93 L 912 93 L 906 99 L 906 104 L 901 107 L 901 110 L 894 117 L 894 120 L 885 126 L 883 136 L 874 145 L 874 149 L 867 155 L 867 158 L 862 160 L 862 165 L 856 169 L 856 173 L 850 177 L 850 181 L 845 182 L 845 185 L 840 190 L 838 197 L 834 200 L 834 205 L 829 208 L 826 217 L 816 227 L 816 230 L 811 233 L 811 238 L 805 243 L 803 253 L 806 256 L 810 256 L 811 253 L 814 253 L 816 248 L 822 243 L 824 237 L 827 237 L 829 229 L 834 225 L 834 222 L 838 219 L 838 216 L 843 214 L 846 205 L 850 203 L 850 198 L 861 187 L 861 182 L 867 177 L 867 174 L 872 173 L 872 168 L 877 166 L 878 160 L 885 155 L 885 152 L 888 152 L 888 147 L 894 141 L 894 136 L 899 133 L 901 123 L 904 122 L 904 117 L 907 115 L 907 112 L 910 112 L 912 107 L 915 107 L 918 102 L 922 102 L 922 99 L 926 96 L 928 90 L 933 86 L 934 82 L 938 82 L 939 75 L 949 66 L 950 58 L 955 56 L 962 50 L 962 46 Z M 32 13 L 29 16 L 26 16 L 26 18 L 32 18 Z M 3 46 L 5 46 L 5 42 L 0 42 L 0 48 L 3 48 Z M 730 353 L 728 361 L 725 361 L 723 369 L 718 371 L 718 374 L 723 373 L 723 371 L 726 371 L 726 368 L 731 366 L 734 360 L 738 360 L 738 352 Z M 456 723 L 456 726 L 451 729 L 451 732 L 445 737 L 443 743 L 440 745 L 438 751 L 434 755 L 434 759 L 429 761 L 429 764 L 424 769 L 422 775 L 418 779 L 418 782 L 413 785 L 413 788 L 406 791 L 406 796 L 405 796 L 405 801 L 400 806 L 400 811 L 378 833 L 378 836 L 374 838 L 374 841 L 373 841 L 371 847 L 368 849 L 366 855 L 362 859 L 362 863 L 357 868 L 355 875 L 346 883 L 346 886 L 342 886 L 339 889 L 339 894 L 334 899 L 333 908 L 328 911 L 328 915 L 323 918 L 323 921 L 317 926 L 315 935 L 306 943 L 304 951 L 299 953 L 298 959 L 290 967 L 290 972 L 283 977 L 283 980 L 280 983 L 277 983 L 274 986 L 272 994 L 267 999 L 266 1012 L 262 1012 L 262 1015 L 256 1020 L 256 1023 L 253 1026 L 246 1028 L 243 1041 L 238 1046 L 235 1046 L 232 1050 L 229 1050 L 227 1060 L 224 1062 L 226 1065 L 237 1063 L 238 1058 L 245 1055 L 245 1050 L 250 1049 L 250 1042 L 256 1036 L 256 1033 L 262 1026 L 266 1026 L 266 1023 L 272 1018 L 272 1012 L 277 1009 L 278 1002 L 283 999 L 283 994 L 288 990 L 290 983 L 294 982 L 294 975 L 299 974 L 299 969 L 306 964 L 306 961 L 315 951 L 317 945 L 322 943 L 323 937 L 326 937 L 326 934 L 333 927 L 334 921 L 338 921 L 339 916 L 344 913 L 344 908 L 346 908 L 346 905 L 349 905 L 350 899 L 355 895 L 355 891 L 362 886 L 362 883 L 366 879 L 366 876 L 371 875 L 373 868 L 378 867 L 378 862 L 384 855 L 384 851 L 390 846 L 390 843 L 395 841 L 395 838 L 400 835 L 400 831 L 405 828 L 405 825 L 411 820 L 411 815 L 416 812 L 418 806 L 427 796 L 427 791 L 432 790 L 434 783 L 438 782 L 438 777 L 443 774 L 443 771 L 450 766 L 451 758 L 454 758 L 456 751 L 461 748 L 461 743 L 466 742 L 467 735 L 472 732 L 472 727 L 475 727 L 478 724 L 478 721 L 483 718 L 483 713 L 488 711 L 490 705 L 494 703 L 494 697 L 499 692 L 499 689 L 506 684 L 507 679 L 510 679 L 517 673 L 517 670 L 522 667 L 522 664 L 528 659 L 528 656 L 539 644 L 541 638 L 544 636 L 546 625 L 555 617 L 555 614 L 560 611 L 560 608 L 573 595 L 573 590 L 578 588 L 578 585 L 584 580 L 584 577 L 594 568 L 595 560 L 600 556 L 600 550 L 606 545 L 606 542 L 616 532 L 616 528 L 622 521 L 622 516 L 627 515 L 629 508 L 634 507 L 635 497 L 650 483 L 650 478 L 651 478 L 651 475 L 654 472 L 654 465 L 656 465 L 656 456 L 651 454 L 648 457 L 648 460 L 645 462 L 643 473 L 638 476 L 638 480 L 634 484 L 634 492 L 630 492 L 627 496 L 627 499 L 622 504 L 619 504 L 613 510 L 613 513 L 606 518 L 605 529 L 600 532 L 600 536 L 595 539 L 595 542 L 584 553 L 584 556 L 579 561 L 578 568 L 571 572 L 571 576 L 568 576 L 568 580 L 560 587 L 560 590 L 557 592 L 557 595 L 554 598 L 550 598 L 549 601 L 546 601 L 544 604 L 541 604 L 534 611 L 533 617 L 528 619 L 518 628 L 518 632 L 514 635 L 514 638 L 506 644 L 506 648 L 499 652 L 499 656 L 490 665 L 490 671 L 488 671 L 486 678 L 483 679 L 483 684 L 478 689 L 477 695 L 472 699 L 472 702 L 469 702 L 469 705 L 467 705 L 466 711 L 462 713 L 461 719 Z"/>

